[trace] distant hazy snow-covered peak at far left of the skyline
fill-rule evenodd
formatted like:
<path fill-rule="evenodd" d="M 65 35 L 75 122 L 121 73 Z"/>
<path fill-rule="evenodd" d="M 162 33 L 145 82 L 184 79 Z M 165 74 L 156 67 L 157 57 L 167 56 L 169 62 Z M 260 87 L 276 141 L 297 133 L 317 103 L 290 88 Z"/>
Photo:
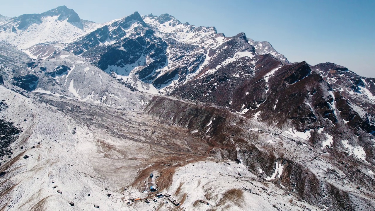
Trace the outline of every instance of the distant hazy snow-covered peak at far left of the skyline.
<path fill-rule="evenodd" d="M 81 20 L 77 13 L 60 6 L 42 14 L 20 15 L 0 23 L 0 40 L 26 49 L 39 43 L 64 47 L 98 24 Z"/>

